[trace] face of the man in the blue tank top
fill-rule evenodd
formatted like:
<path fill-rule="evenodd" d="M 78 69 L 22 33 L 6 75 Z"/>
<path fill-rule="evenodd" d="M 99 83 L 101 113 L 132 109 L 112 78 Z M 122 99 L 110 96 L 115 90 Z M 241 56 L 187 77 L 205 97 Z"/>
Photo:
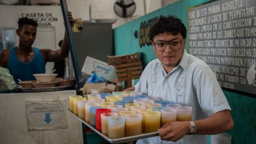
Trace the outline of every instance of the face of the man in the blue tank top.
<path fill-rule="evenodd" d="M 25 47 L 31 47 L 36 39 L 36 27 L 31 25 L 23 25 L 22 29 L 16 30 L 19 36 L 19 43 Z"/>

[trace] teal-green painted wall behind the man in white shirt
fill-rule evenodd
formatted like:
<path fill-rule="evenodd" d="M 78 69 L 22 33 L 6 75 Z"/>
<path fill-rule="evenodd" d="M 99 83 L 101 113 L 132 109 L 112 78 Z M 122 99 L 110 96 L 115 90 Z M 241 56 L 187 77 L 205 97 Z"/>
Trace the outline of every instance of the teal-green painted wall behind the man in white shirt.
<path fill-rule="evenodd" d="M 163 7 L 160 10 L 151 12 L 139 19 L 135 19 L 125 25 L 119 26 L 114 29 L 114 45 L 115 55 L 131 54 L 139 51 L 141 60 L 145 67 L 147 63 L 156 59 L 153 47 L 139 46 L 139 38 L 134 37 L 135 30 L 140 30 L 140 23 L 148 21 L 159 15 L 177 15 L 186 27 L 188 27 L 187 9 L 188 7 L 195 6 L 207 0 L 183 0 Z M 187 49 L 187 48 L 186 48 Z M 250 98 L 245 95 L 240 95 L 232 92 L 224 91 L 229 105 L 231 107 L 231 115 L 234 119 L 234 129 L 227 132 L 232 135 L 233 143 L 256 143 L 256 99 Z"/>

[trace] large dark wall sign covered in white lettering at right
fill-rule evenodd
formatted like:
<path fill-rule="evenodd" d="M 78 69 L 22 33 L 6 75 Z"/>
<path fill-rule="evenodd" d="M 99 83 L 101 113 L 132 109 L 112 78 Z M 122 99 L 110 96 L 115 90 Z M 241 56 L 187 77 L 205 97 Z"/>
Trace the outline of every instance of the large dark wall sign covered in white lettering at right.
<path fill-rule="evenodd" d="M 211 1 L 188 9 L 190 54 L 205 61 L 223 90 L 256 95 L 256 1 Z"/>

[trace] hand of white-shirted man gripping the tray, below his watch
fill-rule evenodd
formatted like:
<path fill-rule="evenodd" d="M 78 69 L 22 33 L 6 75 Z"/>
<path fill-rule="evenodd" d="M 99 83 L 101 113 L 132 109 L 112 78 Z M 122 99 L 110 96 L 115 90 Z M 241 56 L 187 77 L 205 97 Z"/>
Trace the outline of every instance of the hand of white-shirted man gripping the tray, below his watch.
<path fill-rule="evenodd" d="M 162 140 L 178 141 L 188 134 L 189 122 L 169 122 L 159 129 L 159 136 Z"/>

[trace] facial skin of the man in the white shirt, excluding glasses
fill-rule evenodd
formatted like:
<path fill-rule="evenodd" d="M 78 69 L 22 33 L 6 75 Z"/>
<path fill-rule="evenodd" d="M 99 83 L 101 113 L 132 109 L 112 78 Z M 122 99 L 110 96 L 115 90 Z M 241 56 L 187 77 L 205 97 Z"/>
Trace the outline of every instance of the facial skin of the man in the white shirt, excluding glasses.
<path fill-rule="evenodd" d="M 183 39 L 183 37 L 181 36 L 181 34 L 179 33 L 178 35 L 172 35 L 169 33 L 161 33 L 156 35 L 153 38 L 153 42 L 163 42 L 163 41 L 174 41 L 174 40 L 179 40 L 181 41 L 181 48 L 179 50 L 172 50 L 170 45 L 167 44 L 166 45 L 166 49 L 164 51 L 157 51 L 156 47 L 154 46 L 154 52 L 156 53 L 156 57 L 162 62 L 165 70 L 167 69 L 172 69 L 176 66 L 178 66 L 183 52 L 185 50 L 185 43 L 186 43 L 186 38 Z M 169 71 L 170 72 L 170 71 Z"/>

